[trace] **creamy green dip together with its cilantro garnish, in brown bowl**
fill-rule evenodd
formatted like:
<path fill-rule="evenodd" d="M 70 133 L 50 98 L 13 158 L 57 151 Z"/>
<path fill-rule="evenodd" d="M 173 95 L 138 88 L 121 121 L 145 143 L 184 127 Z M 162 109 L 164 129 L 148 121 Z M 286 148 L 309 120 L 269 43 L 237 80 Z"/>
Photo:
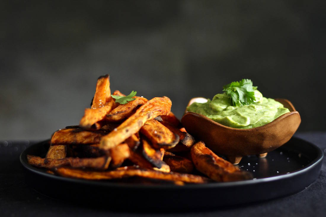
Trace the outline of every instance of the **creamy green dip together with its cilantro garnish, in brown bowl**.
<path fill-rule="evenodd" d="M 239 129 L 259 127 L 290 112 L 283 104 L 263 97 L 249 79 L 232 82 L 223 88 L 223 94 L 216 94 L 206 103 L 193 103 L 187 107 L 187 111 Z"/>

